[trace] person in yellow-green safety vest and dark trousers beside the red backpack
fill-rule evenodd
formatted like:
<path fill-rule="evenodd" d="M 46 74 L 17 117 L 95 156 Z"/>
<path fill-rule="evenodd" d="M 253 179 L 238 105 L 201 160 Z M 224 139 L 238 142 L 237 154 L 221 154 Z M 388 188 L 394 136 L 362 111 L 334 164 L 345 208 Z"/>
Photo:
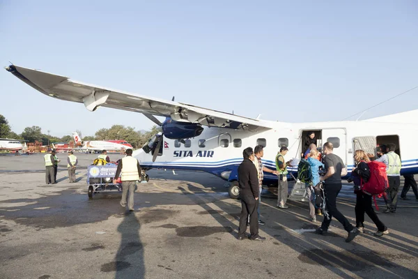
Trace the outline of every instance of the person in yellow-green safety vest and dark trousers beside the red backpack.
<path fill-rule="evenodd" d="M 386 165 L 387 180 L 389 181 L 389 188 L 387 188 L 385 198 L 387 209 L 383 213 L 395 213 L 396 204 L 398 203 L 398 190 L 401 186 L 401 158 L 395 153 L 396 145 L 387 144 L 386 154 L 378 158 L 376 162 L 382 162 Z"/>

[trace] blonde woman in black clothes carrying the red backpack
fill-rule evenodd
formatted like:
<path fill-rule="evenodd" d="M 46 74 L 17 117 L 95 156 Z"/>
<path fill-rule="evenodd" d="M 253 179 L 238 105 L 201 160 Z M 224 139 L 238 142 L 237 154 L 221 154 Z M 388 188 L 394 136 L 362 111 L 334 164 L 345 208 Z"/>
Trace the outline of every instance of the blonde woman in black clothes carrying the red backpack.
<path fill-rule="evenodd" d="M 362 151 L 356 150 L 354 155 L 355 160 L 355 167 L 351 172 L 351 179 L 355 185 L 355 194 L 357 195 L 357 199 L 355 202 L 355 223 L 356 227 L 359 232 L 364 232 L 364 213 L 371 218 L 373 223 L 375 223 L 376 227 L 378 227 L 378 231 L 374 233 L 375 236 L 382 236 L 383 234 L 389 234 L 387 227 L 385 224 L 380 221 L 376 212 L 373 209 L 371 203 L 372 195 L 368 193 L 364 193 L 361 187 L 363 183 L 366 183 L 370 179 L 370 168 L 368 163 L 370 162 L 369 156 Z"/>

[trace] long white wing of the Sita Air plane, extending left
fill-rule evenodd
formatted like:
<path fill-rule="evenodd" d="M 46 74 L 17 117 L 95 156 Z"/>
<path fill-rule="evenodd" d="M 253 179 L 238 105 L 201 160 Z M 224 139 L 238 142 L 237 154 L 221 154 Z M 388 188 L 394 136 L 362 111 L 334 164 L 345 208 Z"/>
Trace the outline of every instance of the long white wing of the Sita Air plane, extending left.
<path fill-rule="evenodd" d="M 185 103 L 160 100 L 102 86 L 75 82 L 68 77 L 20 66 L 8 66 L 6 70 L 47 96 L 60 100 L 84 103 L 87 110 L 92 112 L 102 106 L 118 110 L 140 112 L 157 124 L 159 121 L 153 115 L 171 117 L 175 121 L 200 123 L 203 126 L 233 129 L 243 128 L 249 130 L 273 128 L 272 121 L 251 119 Z"/>

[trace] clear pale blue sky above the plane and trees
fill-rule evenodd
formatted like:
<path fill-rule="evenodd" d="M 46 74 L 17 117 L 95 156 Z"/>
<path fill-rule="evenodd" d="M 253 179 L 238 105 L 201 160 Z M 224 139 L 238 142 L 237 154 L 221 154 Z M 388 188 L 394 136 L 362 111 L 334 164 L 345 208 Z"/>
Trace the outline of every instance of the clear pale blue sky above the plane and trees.
<path fill-rule="evenodd" d="M 0 0 L 0 65 L 243 116 L 334 121 L 418 85 L 417 15 L 414 0 Z M 417 96 L 362 119 L 415 110 Z M 0 97 L 16 133 L 153 126 L 142 114 L 47 97 L 3 69 Z"/>

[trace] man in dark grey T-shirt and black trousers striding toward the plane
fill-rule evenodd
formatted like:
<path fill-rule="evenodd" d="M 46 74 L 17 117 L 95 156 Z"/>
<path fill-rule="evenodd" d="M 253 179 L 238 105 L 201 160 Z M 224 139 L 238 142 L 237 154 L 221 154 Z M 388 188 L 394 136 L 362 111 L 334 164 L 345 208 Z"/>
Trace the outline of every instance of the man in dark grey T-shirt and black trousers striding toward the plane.
<path fill-rule="evenodd" d="M 327 173 L 325 176 L 320 176 L 320 181 L 325 181 L 325 202 L 328 216 L 325 216 L 323 223 L 316 229 L 317 234 L 326 234 L 328 227 L 330 227 L 332 216 L 339 220 L 348 232 L 346 242 L 352 241 L 360 232 L 353 227 L 345 216 L 338 209 L 336 209 L 336 197 L 338 196 L 343 184 L 341 183 L 341 176 L 346 176 L 347 168 L 343 160 L 336 156 L 332 151 L 334 146 L 331 142 L 325 142 L 323 146 L 323 153 L 325 154 L 325 169 Z"/>

